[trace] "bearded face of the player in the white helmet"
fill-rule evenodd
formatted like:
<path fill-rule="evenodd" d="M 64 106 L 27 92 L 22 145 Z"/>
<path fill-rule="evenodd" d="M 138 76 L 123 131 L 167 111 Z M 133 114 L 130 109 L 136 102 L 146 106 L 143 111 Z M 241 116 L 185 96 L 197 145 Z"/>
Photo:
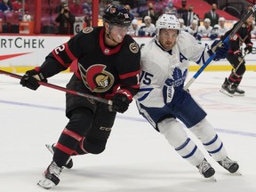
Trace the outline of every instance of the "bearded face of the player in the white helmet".
<path fill-rule="evenodd" d="M 162 28 L 159 32 L 158 41 L 164 47 L 165 50 L 170 51 L 176 44 L 178 37 L 178 30 L 170 28 Z"/>

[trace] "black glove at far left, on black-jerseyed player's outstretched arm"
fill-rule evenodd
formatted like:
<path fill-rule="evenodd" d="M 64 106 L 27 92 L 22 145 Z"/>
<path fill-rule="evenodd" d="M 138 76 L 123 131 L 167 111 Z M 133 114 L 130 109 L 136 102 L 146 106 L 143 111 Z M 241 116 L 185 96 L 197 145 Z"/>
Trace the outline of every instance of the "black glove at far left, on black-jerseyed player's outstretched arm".
<path fill-rule="evenodd" d="M 40 84 L 38 84 L 38 81 L 44 81 L 47 82 L 47 79 L 44 78 L 42 73 L 37 71 L 36 69 L 28 70 L 24 76 L 20 79 L 20 84 L 22 86 L 26 86 L 31 90 L 36 90 Z"/>

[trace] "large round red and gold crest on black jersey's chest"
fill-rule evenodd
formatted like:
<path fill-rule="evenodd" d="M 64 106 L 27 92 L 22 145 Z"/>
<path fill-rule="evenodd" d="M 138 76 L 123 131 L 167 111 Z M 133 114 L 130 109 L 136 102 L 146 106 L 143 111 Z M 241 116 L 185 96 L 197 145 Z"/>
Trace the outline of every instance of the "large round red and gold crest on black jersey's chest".
<path fill-rule="evenodd" d="M 114 76 L 105 71 L 106 66 L 104 65 L 92 65 L 86 70 L 78 63 L 78 68 L 85 86 L 91 92 L 107 92 L 114 84 Z"/>

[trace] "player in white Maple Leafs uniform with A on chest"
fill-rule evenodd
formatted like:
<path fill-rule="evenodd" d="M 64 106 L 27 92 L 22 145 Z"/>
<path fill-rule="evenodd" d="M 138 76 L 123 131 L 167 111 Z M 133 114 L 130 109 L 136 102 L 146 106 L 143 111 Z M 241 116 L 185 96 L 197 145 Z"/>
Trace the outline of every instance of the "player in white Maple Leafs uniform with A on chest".
<path fill-rule="evenodd" d="M 140 114 L 205 178 L 212 177 L 215 171 L 188 137 L 183 124 L 228 172 L 234 173 L 239 168 L 228 158 L 203 108 L 183 89 L 188 60 L 203 64 L 213 52 L 216 52 L 214 60 L 226 57 L 228 44 L 217 47 L 218 43 L 215 41 L 212 46 L 198 44 L 194 36 L 180 30 L 175 16 L 161 15 L 156 21 L 156 37 L 141 49 L 140 91 L 135 96 Z"/>

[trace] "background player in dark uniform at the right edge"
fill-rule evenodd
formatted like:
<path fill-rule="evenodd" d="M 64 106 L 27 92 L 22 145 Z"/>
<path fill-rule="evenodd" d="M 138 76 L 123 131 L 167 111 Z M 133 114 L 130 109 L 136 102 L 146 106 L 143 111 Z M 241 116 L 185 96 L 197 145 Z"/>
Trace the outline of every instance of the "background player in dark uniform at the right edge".
<path fill-rule="evenodd" d="M 241 52 L 241 45 L 245 44 L 244 52 L 246 52 L 246 54 L 252 52 L 251 31 L 253 20 L 253 16 L 249 17 L 229 41 L 230 49 L 228 51 L 227 60 L 232 65 L 233 69 L 228 78 L 225 78 L 220 92 L 230 97 L 233 97 L 234 95 L 244 96 L 244 90 L 238 88 L 246 70 L 245 60 Z M 236 28 L 236 24 L 233 28 Z M 225 39 L 233 28 L 231 28 L 224 36 L 221 36 L 221 39 Z"/>

